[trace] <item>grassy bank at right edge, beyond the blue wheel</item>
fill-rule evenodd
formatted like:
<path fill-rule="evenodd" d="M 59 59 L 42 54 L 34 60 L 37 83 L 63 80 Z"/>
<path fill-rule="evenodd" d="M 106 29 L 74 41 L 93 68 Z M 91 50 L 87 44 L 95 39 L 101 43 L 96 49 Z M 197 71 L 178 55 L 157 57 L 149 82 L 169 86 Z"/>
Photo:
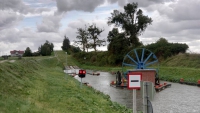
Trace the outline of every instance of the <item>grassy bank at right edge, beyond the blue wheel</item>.
<path fill-rule="evenodd" d="M 197 83 L 200 80 L 200 55 L 178 54 L 161 62 L 160 78 L 172 82 Z"/>

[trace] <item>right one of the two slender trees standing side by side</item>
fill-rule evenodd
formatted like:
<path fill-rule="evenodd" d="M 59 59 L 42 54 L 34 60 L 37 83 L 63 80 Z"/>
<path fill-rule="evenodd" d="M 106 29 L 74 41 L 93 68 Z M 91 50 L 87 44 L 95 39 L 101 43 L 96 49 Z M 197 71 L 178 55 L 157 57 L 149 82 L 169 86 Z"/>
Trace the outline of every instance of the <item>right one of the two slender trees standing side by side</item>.
<path fill-rule="evenodd" d="M 95 24 L 92 24 L 88 28 L 89 38 L 93 40 L 92 43 L 89 44 L 90 47 L 94 49 L 94 51 L 97 51 L 97 46 L 102 46 L 105 43 L 105 40 L 100 40 L 98 36 L 103 32 L 102 29 L 96 27 Z"/>

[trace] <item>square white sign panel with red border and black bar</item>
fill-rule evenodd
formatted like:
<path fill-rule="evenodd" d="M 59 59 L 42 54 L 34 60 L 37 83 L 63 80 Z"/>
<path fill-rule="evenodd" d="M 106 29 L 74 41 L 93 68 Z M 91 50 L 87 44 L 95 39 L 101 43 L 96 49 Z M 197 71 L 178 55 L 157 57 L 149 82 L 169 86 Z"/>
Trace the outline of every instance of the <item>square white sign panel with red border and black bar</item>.
<path fill-rule="evenodd" d="M 128 74 L 128 89 L 140 89 L 142 73 L 130 72 Z"/>

